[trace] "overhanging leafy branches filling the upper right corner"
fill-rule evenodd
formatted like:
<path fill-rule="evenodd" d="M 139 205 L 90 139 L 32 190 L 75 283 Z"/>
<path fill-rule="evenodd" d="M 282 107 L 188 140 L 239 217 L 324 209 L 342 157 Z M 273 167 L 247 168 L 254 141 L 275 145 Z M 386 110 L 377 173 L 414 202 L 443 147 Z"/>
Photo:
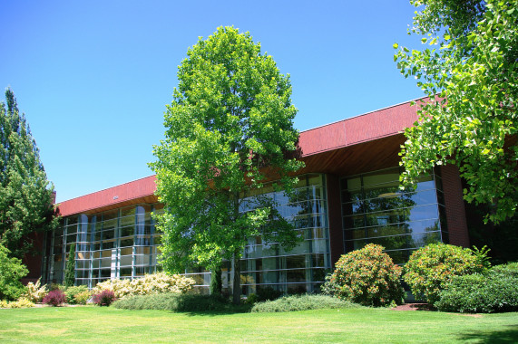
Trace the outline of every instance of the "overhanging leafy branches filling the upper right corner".
<path fill-rule="evenodd" d="M 484 221 L 512 217 L 518 203 L 518 0 L 411 0 L 410 33 L 431 47 L 399 48 L 398 68 L 428 99 L 406 129 L 405 183 L 437 165 L 460 167 L 467 202 L 491 205 Z M 395 44 L 395 48 L 398 45 Z"/>

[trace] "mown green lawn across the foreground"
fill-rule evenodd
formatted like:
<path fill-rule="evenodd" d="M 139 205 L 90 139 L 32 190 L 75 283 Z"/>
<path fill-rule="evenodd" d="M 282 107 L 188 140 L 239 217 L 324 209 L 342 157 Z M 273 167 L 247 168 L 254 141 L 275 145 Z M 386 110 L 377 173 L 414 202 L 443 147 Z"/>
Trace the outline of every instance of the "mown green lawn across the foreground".
<path fill-rule="evenodd" d="M 518 313 L 346 309 L 172 313 L 101 307 L 0 310 L 0 342 L 517 342 Z"/>

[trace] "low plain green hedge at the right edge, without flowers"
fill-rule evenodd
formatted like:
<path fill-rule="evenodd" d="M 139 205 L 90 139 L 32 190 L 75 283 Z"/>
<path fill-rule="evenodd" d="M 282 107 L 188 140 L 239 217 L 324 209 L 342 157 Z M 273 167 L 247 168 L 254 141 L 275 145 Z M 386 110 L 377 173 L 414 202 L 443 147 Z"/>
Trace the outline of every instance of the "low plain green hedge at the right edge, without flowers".
<path fill-rule="evenodd" d="M 516 266 L 501 268 L 517 272 Z M 456 276 L 435 302 L 439 311 L 492 313 L 518 311 L 518 274 L 501 273 Z"/>

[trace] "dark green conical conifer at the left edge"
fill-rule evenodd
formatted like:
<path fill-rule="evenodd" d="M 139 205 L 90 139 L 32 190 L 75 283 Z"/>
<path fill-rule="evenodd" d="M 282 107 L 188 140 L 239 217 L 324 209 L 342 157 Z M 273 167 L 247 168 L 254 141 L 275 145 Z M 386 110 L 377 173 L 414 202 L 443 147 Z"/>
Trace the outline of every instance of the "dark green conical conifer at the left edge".
<path fill-rule="evenodd" d="M 0 243 L 21 258 L 31 247 L 27 234 L 49 230 L 54 217 L 49 186 L 39 151 L 15 94 L 5 91 L 0 103 Z"/>

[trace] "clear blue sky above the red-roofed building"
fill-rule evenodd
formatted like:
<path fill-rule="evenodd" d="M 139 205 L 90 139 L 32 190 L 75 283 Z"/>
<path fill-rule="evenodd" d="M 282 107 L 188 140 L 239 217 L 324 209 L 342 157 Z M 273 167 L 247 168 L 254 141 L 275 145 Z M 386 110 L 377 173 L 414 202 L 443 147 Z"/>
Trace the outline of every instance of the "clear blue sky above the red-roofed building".
<path fill-rule="evenodd" d="M 15 91 L 64 201 L 152 174 L 177 67 L 199 36 L 248 31 L 291 75 L 305 130 L 422 96 L 393 61 L 394 43 L 418 46 L 414 11 L 406 0 L 0 0 L 0 87 Z"/>

